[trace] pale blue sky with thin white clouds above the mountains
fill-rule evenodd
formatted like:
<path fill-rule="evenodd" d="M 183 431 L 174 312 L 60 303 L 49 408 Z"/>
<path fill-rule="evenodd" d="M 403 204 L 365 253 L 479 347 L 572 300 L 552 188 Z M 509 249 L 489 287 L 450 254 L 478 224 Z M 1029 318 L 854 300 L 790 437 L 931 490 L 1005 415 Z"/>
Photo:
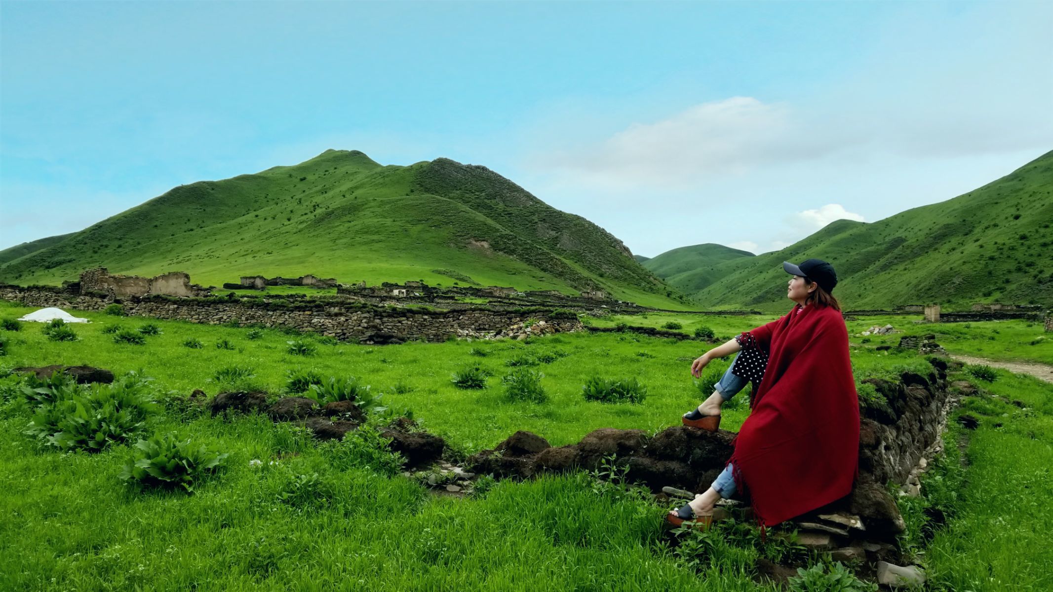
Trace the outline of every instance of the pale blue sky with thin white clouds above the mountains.
<path fill-rule="evenodd" d="M 1049 2 L 0 2 L 0 248 L 359 149 L 637 253 L 755 252 L 1053 149 Z"/>

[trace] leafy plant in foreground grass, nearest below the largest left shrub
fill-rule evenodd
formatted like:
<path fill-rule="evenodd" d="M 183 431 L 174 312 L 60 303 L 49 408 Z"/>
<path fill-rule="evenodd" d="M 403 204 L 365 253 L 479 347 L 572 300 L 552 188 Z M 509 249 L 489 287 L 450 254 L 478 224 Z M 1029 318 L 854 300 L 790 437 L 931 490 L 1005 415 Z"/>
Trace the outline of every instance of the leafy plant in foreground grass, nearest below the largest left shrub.
<path fill-rule="evenodd" d="M 175 433 L 155 434 L 136 443 L 120 478 L 144 487 L 181 487 L 193 493 L 194 486 L 215 473 L 226 456 L 188 438 L 180 441 Z"/>

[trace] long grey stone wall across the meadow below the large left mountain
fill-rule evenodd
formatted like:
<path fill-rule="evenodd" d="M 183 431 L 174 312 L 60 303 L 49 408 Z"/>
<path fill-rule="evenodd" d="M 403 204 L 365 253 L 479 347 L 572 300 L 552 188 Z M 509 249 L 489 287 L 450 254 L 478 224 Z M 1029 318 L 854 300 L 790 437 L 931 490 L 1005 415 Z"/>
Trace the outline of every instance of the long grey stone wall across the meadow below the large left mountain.
<path fill-rule="evenodd" d="M 76 310 L 101 310 L 114 298 L 71 295 L 60 289 L 0 286 L 0 299 L 27 306 L 56 306 Z M 450 336 L 519 336 L 580 330 L 577 317 L 565 318 L 547 311 L 515 310 L 418 310 L 377 307 L 362 303 L 319 301 L 265 301 L 262 299 L 144 297 L 122 302 L 128 315 L 173 319 L 220 325 L 289 327 L 313 331 L 338 340 L 364 343 L 401 343 L 411 340 L 443 341 Z M 523 322 L 544 321 L 529 328 Z"/>

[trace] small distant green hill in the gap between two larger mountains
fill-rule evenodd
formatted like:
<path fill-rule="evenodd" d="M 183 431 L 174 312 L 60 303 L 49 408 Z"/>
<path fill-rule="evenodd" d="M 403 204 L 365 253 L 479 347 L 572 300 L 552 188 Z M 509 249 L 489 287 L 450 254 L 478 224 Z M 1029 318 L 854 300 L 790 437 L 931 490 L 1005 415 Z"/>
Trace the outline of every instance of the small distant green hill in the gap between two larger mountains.
<path fill-rule="evenodd" d="M 750 251 L 714 243 L 679 247 L 643 263 L 643 267 L 683 293 L 701 290 L 734 271 L 730 262 L 755 257 Z"/>

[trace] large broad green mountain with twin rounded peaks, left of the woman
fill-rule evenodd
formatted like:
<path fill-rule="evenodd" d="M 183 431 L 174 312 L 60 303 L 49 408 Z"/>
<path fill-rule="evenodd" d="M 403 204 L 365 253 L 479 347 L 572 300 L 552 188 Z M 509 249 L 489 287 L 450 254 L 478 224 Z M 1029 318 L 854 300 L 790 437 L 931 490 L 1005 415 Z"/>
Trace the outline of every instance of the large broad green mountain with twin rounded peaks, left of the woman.
<path fill-rule="evenodd" d="M 621 300 L 675 305 L 602 228 L 483 166 L 448 159 L 381 166 L 357 150 L 326 150 L 295 166 L 180 185 L 36 244 L 43 248 L 3 251 L 0 281 L 57 284 L 95 266 L 186 271 L 204 285 L 314 273 L 349 283 L 602 288 Z"/>

